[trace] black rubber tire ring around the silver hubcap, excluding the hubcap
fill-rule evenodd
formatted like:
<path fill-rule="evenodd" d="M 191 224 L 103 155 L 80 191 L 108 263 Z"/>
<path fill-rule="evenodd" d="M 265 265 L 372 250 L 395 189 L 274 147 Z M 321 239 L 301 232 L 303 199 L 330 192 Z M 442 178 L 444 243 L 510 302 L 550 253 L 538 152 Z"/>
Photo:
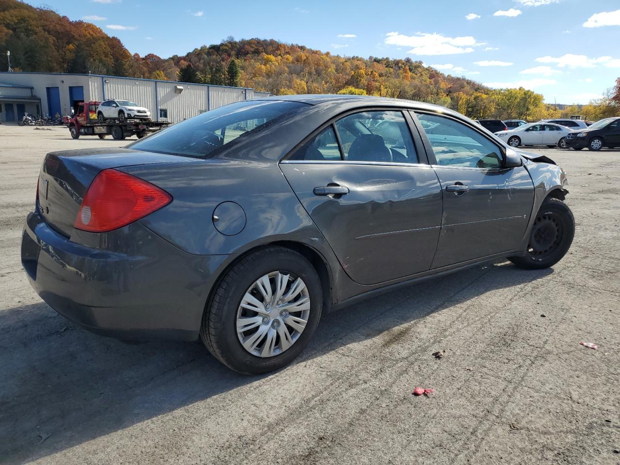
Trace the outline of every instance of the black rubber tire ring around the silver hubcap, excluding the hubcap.
<path fill-rule="evenodd" d="M 267 260 L 259 259 L 242 270 L 234 267 L 229 271 L 229 273 L 234 273 L 234 279 L 227 282 L 226 290 L 223 292 L 223 303 L 216 303 L 215 299 L 211 303 L 221 308 L 208 315 L 210 338 L 219 348 L 219 353 L 213 355 L 224 365 L 242 374 L 267 373 L 291 363 L 308 345 L 321 318 L 322 288 L 314 267 L 302 255 L 292 250 L 272 250 L 274 253 L 268 254 Z M 239 342 L 236 332 L 237 309 L 241 298 L 252 283 L 273 271 L 290 272 L 301 278 L 308 287 L 311 308 L 308 324 L 293 346 L 280 355 L 261 358 L 247 352 Z"/>

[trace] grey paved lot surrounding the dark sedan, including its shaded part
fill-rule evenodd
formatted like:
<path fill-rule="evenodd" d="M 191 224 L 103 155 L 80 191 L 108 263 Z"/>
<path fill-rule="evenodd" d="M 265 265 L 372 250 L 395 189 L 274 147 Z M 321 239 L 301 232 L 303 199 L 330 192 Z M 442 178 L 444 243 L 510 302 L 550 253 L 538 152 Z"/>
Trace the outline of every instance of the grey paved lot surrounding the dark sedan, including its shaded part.
<path fill-rule="evenodd" d="M 620 151 L 532 149 L 577 220 L 552 269 L 489 263 L 328 314 L 294 365 L 249 378 L 198 342 L 76 328 L 30 288 L 44 154 L 122 142 L 0 125 L 0 463 L 620 463 Z"/>

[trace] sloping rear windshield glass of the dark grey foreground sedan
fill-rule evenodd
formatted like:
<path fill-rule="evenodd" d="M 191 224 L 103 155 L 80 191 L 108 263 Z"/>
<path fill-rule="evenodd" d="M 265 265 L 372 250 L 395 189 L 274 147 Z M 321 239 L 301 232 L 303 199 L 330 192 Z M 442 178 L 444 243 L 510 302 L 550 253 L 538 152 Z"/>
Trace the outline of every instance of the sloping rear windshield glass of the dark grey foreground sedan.
<path fill-rule="evenodd" d="M 221 149 L 256 135 L 308 105 L 278 100 L 237 102 L 202 113 L 158 131 L 128 148 L 188 157 L 210 158 Z"/>

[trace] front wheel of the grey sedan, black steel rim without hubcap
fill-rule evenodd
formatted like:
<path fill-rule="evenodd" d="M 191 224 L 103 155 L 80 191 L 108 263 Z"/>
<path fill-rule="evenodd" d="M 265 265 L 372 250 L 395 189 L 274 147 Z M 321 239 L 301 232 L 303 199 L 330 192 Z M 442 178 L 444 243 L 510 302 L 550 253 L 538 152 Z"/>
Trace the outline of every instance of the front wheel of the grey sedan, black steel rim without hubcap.
<path fill-rule="evenodd" d="M 575 218 L 568 205 L 547 197 L 541 205 L 529 234 L 524 257 L 508 257 L 519 268 L 539 270 L 562 260 L 575 236 Z"/>

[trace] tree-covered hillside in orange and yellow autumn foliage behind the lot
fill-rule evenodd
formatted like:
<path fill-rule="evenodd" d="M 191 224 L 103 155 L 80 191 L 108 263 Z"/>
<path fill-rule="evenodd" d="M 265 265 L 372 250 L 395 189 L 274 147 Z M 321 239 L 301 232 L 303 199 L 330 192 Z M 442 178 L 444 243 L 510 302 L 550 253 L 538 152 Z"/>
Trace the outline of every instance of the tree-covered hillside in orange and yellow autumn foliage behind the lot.
<path fill-rule="evenodd" d="M 0 50 L 11 50 L 15 71 L 202 82 L 253 87 L 278 95 L 381 95 L 432 102 L 471 118 L 538 120 L 582 113 L 598 119 L 618 111 L 611 94 L 604 105 L 559 110 L 544 104 L 542 95 L 533 91 L 490 89 L 410 58 L 345 57 L 276 40 L 228 38 L 183 56 L 131 55 L 118 38 L 109 37 L 94 24 L 71 21 L 17 0 L 0 0 Z M 5 55 L 0 55 L 0 69 L 6 69 Z"/>

